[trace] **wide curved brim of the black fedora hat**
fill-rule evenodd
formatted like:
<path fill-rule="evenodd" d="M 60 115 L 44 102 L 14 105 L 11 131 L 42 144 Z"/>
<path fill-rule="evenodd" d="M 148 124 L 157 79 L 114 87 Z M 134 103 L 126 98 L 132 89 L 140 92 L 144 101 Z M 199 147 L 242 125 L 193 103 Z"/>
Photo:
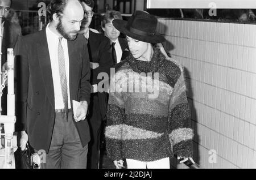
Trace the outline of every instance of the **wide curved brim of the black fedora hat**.
<path fill-rule="evenodd" d="M 126 28 L 126 24 L 127 24 L 127 21 L 125 20 L 121 20 L 121 19 L 113 20 L 113 25 L 115 29 L 122 32 L 126 36 L 134 38 L 135 40 L 148 42 L 152 44 L 157 44 L 157 43 L 166 41 L 165 38 L 162 35 L 160 35 L 158 32 L 156 32 L 154 36 L 142 36 L 142 35 L 137 35 L 135 33 L 132 33 Z"/>

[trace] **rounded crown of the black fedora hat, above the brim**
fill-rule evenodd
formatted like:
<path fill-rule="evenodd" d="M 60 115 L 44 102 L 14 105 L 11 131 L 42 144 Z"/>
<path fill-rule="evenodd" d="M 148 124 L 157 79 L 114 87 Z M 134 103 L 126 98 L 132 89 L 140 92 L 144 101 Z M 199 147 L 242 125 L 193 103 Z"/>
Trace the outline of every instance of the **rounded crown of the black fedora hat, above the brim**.
<path fill-rule="evenodd" d="M 154 36 L 157 23 L 158 20 L 155 16 L 144 11 L 136 11 L 128 20 L 126 28 L 130 31 L 144 32 L 146 35 Z"/>

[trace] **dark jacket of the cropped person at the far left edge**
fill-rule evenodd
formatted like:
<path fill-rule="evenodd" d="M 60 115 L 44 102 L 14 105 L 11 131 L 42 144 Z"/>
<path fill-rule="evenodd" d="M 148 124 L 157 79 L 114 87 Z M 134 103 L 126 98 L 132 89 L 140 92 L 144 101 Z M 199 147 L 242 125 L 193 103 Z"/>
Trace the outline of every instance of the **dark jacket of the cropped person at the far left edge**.
<path fill-rule="evenodd" d="M 7 48 L 14 48 L 18 37 L 22 35 L 18 24 L 5 20 L 3 27 L 2 65 L 7 61 Z"/>

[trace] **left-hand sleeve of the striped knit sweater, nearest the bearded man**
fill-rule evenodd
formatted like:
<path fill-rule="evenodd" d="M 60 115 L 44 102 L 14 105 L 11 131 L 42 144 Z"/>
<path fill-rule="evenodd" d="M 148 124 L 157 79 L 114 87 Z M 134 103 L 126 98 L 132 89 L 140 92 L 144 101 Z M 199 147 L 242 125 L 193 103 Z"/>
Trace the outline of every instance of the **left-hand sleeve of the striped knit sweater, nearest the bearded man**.
<path fill-rule="evenodd" d="M 111 160 L 121 160 L 122 157 L 122 123 L 125 120 L 125 106 L 120 91 L 119 81 L 110 79 L 110 93 L 105 130 L 106 152 Z M 119 87 L 119 89 L 117 89 Z"/>

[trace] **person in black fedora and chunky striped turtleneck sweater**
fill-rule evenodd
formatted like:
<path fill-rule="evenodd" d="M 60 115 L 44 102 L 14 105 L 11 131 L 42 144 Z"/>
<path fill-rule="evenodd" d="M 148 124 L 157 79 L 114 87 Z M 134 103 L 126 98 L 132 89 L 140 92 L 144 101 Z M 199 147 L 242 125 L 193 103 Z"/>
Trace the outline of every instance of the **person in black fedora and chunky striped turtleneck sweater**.
<path fill-rule="evenodd" d="M 126 35 L 130 54 L 110 78 L 106 151 L 117 168 L 170 168 L 169 158 L 192 160 L 193 130 L 183 68 L 153 44 L 164 41 L 158 20 L 135 11 L 113 25 Z"/>

